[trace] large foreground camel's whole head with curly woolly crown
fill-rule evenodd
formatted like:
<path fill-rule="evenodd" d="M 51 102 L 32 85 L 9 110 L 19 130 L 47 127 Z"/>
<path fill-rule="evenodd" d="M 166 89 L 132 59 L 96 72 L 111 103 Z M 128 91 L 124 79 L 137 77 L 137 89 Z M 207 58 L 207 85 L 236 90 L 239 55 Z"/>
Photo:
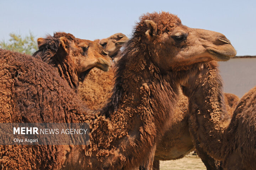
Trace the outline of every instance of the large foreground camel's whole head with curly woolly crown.
<path fill-rule="evenodd" d="M 133 38 L 145 44 L 151 60 L 160 70 L 180 69 L 212 60 L 227 61 L 236 55 L 223 34 L 184 26 L 180 18 L 168 12 L 140 17 Z"/>

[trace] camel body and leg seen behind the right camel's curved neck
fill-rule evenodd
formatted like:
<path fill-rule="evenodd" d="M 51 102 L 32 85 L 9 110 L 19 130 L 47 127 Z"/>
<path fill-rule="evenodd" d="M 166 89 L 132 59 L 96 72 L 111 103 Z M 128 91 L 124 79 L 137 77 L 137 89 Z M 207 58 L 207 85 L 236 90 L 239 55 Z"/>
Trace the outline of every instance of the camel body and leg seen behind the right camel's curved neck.
<path fill-rule="evenodd" d="M 238 104 L 239 97 L 234 94 L 224 94 L 226 107 L 232 111 Z M 159 160 L 180 159 L 194 150 L 192 137 L 189 132 L 188 98 L 180 94 L 176 107 L 176 120 L 173 120 L 159 143 L 156 145 L 154 169 L 159 170 Z M 230 115 L 231 117 L 231 115 Z M 197 151 L 206 165 L 207 170 L 222 169 L 219 164 L 202 151 Z"/>

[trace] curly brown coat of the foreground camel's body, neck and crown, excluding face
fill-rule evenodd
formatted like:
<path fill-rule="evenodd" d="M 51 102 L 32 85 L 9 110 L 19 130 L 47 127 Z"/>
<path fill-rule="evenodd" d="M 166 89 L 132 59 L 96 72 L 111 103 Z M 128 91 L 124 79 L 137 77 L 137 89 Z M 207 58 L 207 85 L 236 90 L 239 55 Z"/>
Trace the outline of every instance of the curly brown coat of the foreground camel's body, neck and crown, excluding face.
<path fill-rule="evenodd" d="M 171 18 L 170 25 L 180 22 L 169 13 L 162 16 Z M 139 24 L 138 30 L 143 25 Z M 149 151 L 154 151 L 154 143 L 165 129 L 165 120 L 170 119 L 171 115 L 166 114 L 170 108 L 164 106 L 175 105 L 178 85 L 167 82 L 173 79 L 179 82 L 185 73 L 160 75 L 149 56 L 138 48 L 145 49 L 135 37 L 119 61 L 111 102 L 101 115 L 90 113 L 53 67 L 31 56 L 1 50 L 1 87 L 4 87 L 1 96 L 6 96 L 1 97 L 4 98 L 1 104 L 8 104 L 0 114 L 2 122 L 90 124 L 89 146 L 1 146 L 1 166 L 9 169 L 130 169 L 142 164 L 143 158 L 152 154 Z M 166 85 L 162 86 L 163 83 Z M 172 96 L 171 101 L 164 97 L 166 93 Z"/>

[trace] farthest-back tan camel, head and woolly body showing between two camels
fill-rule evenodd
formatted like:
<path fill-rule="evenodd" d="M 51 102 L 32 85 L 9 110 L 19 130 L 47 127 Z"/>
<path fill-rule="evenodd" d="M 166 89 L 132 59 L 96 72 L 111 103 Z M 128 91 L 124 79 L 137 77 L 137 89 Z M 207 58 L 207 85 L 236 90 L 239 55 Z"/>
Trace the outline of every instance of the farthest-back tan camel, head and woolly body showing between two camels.
<path fill-rule="evenodd" d="M 108 55 L 117 61 L 117 53 L 122 45 L 129 39 L 122 33 L 116 33 L 105 39 L 97 39 L 95 42 L 100 43 Z M 93 68 L 87 75 L 86 81 L 80 83 L 78 90 L 79 94 L 87 104 L 87 106 L 96 110 L 107 104 L 107 99 L 112 95 L 114 87 L 114 68 L 110 67 L 108 72 L 103 72 L 100 69 Z"/>

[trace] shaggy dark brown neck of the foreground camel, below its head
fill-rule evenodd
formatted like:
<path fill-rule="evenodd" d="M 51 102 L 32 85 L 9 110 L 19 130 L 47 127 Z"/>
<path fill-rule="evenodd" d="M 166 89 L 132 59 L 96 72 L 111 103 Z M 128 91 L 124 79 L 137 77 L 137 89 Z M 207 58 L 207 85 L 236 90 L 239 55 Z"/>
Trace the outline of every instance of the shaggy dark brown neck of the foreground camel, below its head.
<path fill-rule="evenodd" d="M 147 125 L 149 134 L 161 136 L 172 118 L 180 79 L 176 79 L 177 73 L 161 74 L 149 54 L 140 51 L 132 47 L 129 52 L 126 49 L 122 52 L 113 95 L 101 114 L 124 125 L 133 117 L 132 120 L 137 121 L 134 124 Z"/>

